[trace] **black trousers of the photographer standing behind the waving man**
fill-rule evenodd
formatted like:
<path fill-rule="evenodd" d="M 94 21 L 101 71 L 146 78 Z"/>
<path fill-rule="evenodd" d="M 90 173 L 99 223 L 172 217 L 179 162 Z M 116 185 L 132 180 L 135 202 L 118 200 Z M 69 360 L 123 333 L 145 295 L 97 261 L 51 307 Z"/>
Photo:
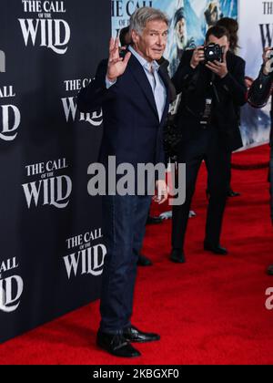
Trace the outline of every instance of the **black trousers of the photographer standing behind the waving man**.
<path fill-rule="evenodd" d="M 205 160 L 207 166 L 209 190 L 205 239 L 217 245 L 227 202 L 231 153 L 221 140 L 217 128 L 200 128 L 196 140 L 182 143 L 178 160 L 180 163 L 186 163 L 186 202 L 173 207 L 172 247 L 183 249 L 188 213 L 202 160 Z"/>

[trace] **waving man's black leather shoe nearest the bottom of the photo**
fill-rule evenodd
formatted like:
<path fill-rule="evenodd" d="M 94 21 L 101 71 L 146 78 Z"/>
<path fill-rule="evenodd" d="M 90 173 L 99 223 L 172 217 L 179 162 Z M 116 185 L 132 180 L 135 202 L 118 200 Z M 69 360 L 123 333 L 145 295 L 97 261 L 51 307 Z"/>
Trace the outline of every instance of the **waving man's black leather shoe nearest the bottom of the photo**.
<path fill-rule="evenodd" d="M 99 330 L 96 335 L 96 345 L 115 357 L 141 356 L 140 352 L 122 335 L 106 334 Z"/>

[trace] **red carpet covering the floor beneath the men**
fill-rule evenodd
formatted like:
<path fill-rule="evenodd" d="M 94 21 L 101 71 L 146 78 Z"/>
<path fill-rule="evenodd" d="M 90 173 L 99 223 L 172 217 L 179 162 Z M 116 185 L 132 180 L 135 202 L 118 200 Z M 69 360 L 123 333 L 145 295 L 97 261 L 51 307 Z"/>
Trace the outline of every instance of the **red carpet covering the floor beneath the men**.
<path fill-rule="evenodd" d="M 234 162 L 266 162 L 268 146 L 237 153 Z M 197 218 L 187 233 L 187 264 L 171 264 L 170 222 L 147 227 L 144 254 L 154 262 L 139 269 L 134 324 L 162 339 L 138 348 L 134 360 L 108 356 L 95 346 L 98 303 L 0 346 L 0 364 L 272 364 L 273 311 L 265 307 L 273 276 L 273 229 L 266 169 L 233 171 L 241 197 L 228 201 L 222 243 L 230 254 L 202 251 L 206 172 L 193 204 Z M 157 208 L 154 208 L 154 212 Z M 165 210 L 165 209 L 163 209 Z M 197 238 L 197 239 L 194 239 Z"/>

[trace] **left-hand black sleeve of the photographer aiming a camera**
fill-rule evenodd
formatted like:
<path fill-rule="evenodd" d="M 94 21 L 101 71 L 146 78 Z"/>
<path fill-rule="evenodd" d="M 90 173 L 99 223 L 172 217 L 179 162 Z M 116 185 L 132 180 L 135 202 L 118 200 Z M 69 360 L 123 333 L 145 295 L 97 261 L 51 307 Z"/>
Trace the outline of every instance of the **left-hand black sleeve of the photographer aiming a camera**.
<path fill-rule="evenodd" d="M 186 88 L 189 82 L 194 78 L 197 73 L 197 68 L 194 69 L 190 66 L 190 60 L 193 55 L 193 50 L 185 51 L 182 55 L 177 72 L 172 78 L 172 82 L 177 90 L 177 95 Z"/>

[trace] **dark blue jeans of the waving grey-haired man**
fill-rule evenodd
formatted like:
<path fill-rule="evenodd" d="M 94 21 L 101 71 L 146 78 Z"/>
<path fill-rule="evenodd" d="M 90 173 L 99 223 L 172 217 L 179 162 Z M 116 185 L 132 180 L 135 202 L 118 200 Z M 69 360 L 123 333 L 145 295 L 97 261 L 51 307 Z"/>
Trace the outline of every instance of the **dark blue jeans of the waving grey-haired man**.
<path fill-rule="evenodd" d="M 141 250 L 148 196 L 103 197 L 103 233 L 106 241 L 101 294 L 101 331 L 119 334 L 130 326 L 136 282 L 136 263 Z"/>

